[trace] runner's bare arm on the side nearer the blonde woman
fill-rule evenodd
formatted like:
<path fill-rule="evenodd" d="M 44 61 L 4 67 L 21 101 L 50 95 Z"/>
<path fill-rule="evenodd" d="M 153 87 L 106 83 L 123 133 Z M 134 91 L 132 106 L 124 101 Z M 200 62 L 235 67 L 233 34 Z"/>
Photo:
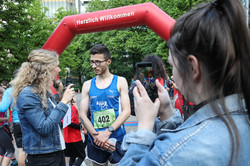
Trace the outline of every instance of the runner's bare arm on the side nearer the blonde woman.
<path fill-rule="evenodd" d="M 90 135 L 95 139 L 94 133 L 96 130 L 94 129 L 91 121 L 87 117 L 88 109 L 89 109 L 89 89 L 90 89 L 91 80 L 85 82 L 82 86 L 82 99 L 80 104 L 80 114 L 79 118 L 81 123 L 90 133 Z"/>

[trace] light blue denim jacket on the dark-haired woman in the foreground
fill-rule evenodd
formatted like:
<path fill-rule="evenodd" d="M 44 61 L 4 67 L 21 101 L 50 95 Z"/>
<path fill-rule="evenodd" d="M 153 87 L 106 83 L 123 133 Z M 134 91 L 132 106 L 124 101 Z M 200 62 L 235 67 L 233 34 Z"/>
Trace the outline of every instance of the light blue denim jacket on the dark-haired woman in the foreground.
<path fill-rule="evenodd" d="M 239 131 L 239 156 L 233 165 L 250 165 L 250 121 L 244 99 L 235 94 L 226 97 L 225 102 Z M 219 108 L 222 109 L 221 105 Z M 145 129 L 126 135 L 122 148 L 127 152 L 119 165 L 229 165 L 230 134 L 210 104 L 197 110 L 183 124 L 179 111 L 167 121 L 157 119 L 154 130 L 154 133 Z"/>

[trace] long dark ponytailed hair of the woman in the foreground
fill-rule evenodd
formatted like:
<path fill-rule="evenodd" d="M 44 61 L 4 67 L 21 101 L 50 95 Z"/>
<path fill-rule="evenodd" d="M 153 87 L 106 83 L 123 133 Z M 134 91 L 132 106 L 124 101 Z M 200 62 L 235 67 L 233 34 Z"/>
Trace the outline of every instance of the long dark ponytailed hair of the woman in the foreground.
<path fill-rule="evenodd" d="M 176 22 L 168 42 L 172 55 L 178 59 L 178 71 L 187 81 L 186 86 L 191 87 L 188 84 L 191 69 L 187 56 L 192 54 L 202 63 L 202 70 L 207 72 L 204 84 L 209 91 L 204 93 L 212 101 L 242 93 L 250 117 L 249 43 L 245 13 L 238 0 L 217 0 L 187 13 Z M 238 129 L 225 103 L 221 102 L 223 112 L 219 112 L 215 104 L 213 107 L 218 115 L 226 115 L 220 118 L 231 133 L 232 164 L 233 157 L 238 157 L 240 146 Z"/>

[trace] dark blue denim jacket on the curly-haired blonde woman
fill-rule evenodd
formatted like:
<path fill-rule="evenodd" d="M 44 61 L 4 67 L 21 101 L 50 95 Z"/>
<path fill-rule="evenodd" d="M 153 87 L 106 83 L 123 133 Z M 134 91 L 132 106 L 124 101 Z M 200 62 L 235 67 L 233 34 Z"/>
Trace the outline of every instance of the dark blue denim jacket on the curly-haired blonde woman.
<path fill-rule="evenodd" d="M 51 101 L 56 104 L 53 97 L 47 95 L 48 108 L 43 107 L 41 98 L 31 86 L 25 87 L 18 95 L 16 106 L 23 133 L 23 150 L 27 154 L 44 154 L 62 149 L 58 125 L 68 107 L 59 102 L 54 108 Z"/>

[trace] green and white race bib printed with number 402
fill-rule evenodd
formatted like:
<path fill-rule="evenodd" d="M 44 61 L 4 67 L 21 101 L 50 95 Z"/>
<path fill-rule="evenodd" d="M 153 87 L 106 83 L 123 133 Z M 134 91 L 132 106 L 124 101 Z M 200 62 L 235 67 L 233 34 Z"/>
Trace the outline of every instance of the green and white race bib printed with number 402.
<path fill-rule="evenodd" d="M 114 109 L 93 112 L 94 128 L 105 128 L 111 126 L 116 117 Z"/>

